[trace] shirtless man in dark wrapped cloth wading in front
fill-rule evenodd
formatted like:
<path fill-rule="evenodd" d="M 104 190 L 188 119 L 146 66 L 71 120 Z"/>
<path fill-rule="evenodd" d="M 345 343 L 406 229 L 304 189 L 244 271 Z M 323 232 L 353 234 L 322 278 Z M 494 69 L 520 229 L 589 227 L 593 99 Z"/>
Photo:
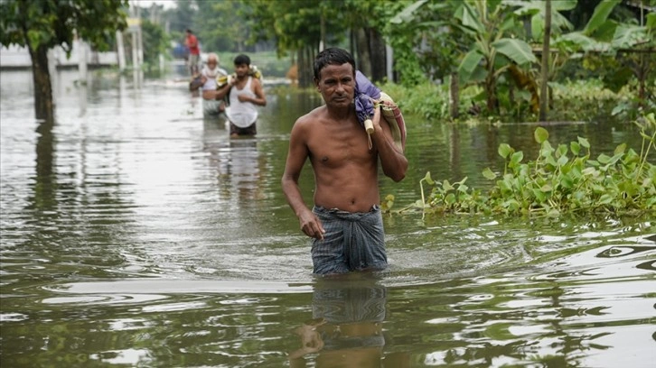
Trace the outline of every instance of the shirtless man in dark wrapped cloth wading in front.
<path fill-rule="evenodd" d="M 400 181 L 408 160 L 394 144 L 380 109 L 373 116 L 373 147 L 355 114 L 355 61 L 347 51 L 326 49 L 314 59 L 314 85 L 325 105 L 296 120 L 289 138 L 282 189 L 301 229 L 313 238 L 314 273 L 387 267 L 380 214 L 378 161 Z M 307 159 L 314 170 L 314 207 L 305 205 L 298 178 Z"/>

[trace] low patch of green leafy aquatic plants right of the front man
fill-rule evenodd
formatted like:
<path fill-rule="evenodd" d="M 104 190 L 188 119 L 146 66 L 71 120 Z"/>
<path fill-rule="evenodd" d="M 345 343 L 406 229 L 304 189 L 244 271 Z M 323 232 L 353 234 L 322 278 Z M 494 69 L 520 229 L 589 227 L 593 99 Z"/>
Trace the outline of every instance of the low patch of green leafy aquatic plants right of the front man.
<path fill-rule="evenodd" d="M 422 198 L 409 209 L 421 209 L 423 214 L 503 214 L 520 216 L 642 214 L 656 211 L 656 166 L 648 161 L 656 149 L 656 119 L 654 114 L 643 116 L 635 124 L 641 129 L 641 152 L 618 145 L 612 156 L 590 155 L 590 143 L 578 137 L 576 142 L 554 147 L 548 141 L 548 131 L 534 131 L 540 149 L 534 161 L 524 162 L 523 152 L 509 144 L 499 146 L 504 160 L 502 172 L 483 170 L 486 179 L 494 181 L 483 193 L 470 189 L 467 178 L 450 183 L 436 182 L 430 172 L 420 180 Z M 425 196 L 424 183 L 430 188 Z M 388 198 L 389 201 L 389 198 Z M 393 198 L 389 205 L 393 205 Z"/>

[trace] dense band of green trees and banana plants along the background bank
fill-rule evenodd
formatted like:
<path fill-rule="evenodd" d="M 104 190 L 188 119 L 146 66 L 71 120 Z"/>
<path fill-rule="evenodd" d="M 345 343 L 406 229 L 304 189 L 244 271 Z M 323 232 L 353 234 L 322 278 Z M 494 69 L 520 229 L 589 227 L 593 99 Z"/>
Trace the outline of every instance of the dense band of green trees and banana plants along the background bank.
<path fill-rule="evenodd" d="M 312 84 L 311 60 L 321 45 L 348 48 L 358 68 L 374 81 L 448 86 L 446 102 L 455 104 L 444 110 L 449 119 L 473 111 L 513 120 L 551 120 L 551 113 L 538 116 L 540 101 L 548 100 L 543 108 L 556 111 L 554 84 L 582 77 L 599 79 L 604 87 L 630 96 L 611 107 L 614 115 L 633 119 L 650 111 L 656 80 L 656 14 L 651 12 L 656 0 L 550 0 L 549 14 L 547 3 L 178 0 L 164 18 L 176 32 L 183 24 L 191 26 L 208 51 L 275 50 L 290 65 L 298 65 L 301 87 Z M 547 15 L 552 26 L 548 68 L 543 69 Z M 393 58 L 391 78 L 388 57 Z M 464 99 L 460 95 L 468 104 L 464 111 L 457 106 Z"/>

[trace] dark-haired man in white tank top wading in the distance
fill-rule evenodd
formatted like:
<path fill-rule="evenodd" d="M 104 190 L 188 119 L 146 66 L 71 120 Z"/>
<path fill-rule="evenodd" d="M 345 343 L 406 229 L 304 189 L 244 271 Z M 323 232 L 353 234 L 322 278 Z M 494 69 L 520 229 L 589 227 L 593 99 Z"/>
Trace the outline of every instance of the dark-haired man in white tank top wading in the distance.
<path fill-rule="evenodd" d="M 258 133 L 258 106 L 267 106 L 267 97 L 259 78 L 250 75 L 250 58 L 240 54 L 234 60 L 235 74 L 230 82 L 220 87 L 218 97 L 228 95 L 226 111 L 230 122 L 230 136 Z"/>

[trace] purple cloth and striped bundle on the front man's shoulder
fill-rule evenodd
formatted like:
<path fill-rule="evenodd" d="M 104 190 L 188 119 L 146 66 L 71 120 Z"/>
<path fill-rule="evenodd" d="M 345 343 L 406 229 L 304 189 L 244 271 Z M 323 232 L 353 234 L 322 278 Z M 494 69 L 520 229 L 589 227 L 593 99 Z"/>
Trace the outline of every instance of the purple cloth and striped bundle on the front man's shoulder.
<path fill-rule="evenodd" d="M 392 97 L 381 91 L 371 81 L 361 73 L 355 71 L 355 114 L 358 115 L 358 121 L 365 128 L 368 134 L 373 133 L 374 108 L 379 108 L 382 113 L 382 120 L 389 124 L 392 131 L 394 143 L 403 152 L 406 149 L 406 122 L 403 120 L 401 110 L 394 103 Z M 382 123 L 382 122 L 381 122 Z M 371 149 L 371 137 L 369 138 L 369 148 Z"/>

